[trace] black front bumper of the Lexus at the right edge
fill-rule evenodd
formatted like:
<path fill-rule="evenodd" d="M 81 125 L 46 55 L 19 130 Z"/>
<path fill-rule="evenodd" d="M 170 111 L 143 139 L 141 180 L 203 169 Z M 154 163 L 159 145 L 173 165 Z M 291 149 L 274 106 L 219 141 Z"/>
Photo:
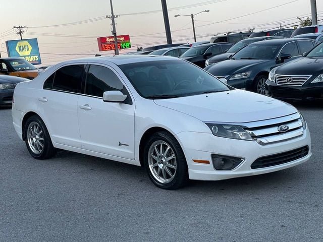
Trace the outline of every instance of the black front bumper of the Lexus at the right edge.
<path fill-rule="evenodd" d="M 282 86 L 266 81 L 266 95 L 282 100 L 323 100 L 323 84 Z"/>

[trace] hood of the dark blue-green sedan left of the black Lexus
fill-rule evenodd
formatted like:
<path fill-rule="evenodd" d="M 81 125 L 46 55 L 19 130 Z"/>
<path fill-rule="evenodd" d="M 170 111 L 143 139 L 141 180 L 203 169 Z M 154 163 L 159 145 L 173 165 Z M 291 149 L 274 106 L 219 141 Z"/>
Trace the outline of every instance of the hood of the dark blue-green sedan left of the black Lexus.
<path fill-rule="evenodd" d="M 270 63 L 272 59 L 228 59 L 205 68 L 205 71 L 216 76 L 231 76 L 246 71 L 258 64 Z"/>

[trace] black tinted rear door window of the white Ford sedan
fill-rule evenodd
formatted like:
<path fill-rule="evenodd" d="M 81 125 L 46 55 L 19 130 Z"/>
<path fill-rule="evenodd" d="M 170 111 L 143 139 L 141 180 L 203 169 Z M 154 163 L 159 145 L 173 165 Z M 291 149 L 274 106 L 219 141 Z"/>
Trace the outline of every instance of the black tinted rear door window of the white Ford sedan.
<path fill-rule="evenodd" d="M 81 91 L 83 73 L 84 65 L 62 67 L 56 71 L 52 88 L 79 93 Z"/>

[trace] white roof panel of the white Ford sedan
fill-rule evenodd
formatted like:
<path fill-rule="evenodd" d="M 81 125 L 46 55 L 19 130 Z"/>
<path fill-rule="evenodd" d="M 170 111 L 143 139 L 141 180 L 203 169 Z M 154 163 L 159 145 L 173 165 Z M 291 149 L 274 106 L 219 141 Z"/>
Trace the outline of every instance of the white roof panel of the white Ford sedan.
<path fill-rule="evenodd" d="M 172 56 L 164 55 L 146 55 L 146 54 L 125 54 L 125 55 L 116 55 L 116 56 L 97 56 L 97 57 L 88 57 L 88 58 L 79 58 L 72 59 L 70 61 L 61 62 L 61 64 L 74 64 L 80 62 L 93 62 L 93 63 L 113 63 L 117 66 L 130 64 L 130 63 L 140 63 L 140 62 L 151 62 L 151 61 L 170 61 L 177 59 Z"/>

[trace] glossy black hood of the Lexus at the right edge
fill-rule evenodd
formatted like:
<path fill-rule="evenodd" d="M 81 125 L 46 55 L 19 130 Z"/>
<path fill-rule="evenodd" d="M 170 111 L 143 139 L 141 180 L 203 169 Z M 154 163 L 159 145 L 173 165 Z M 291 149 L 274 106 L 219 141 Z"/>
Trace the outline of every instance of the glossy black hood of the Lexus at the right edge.
<path fill-rule="evenodd" d="M 288 62 L 276 70 L 282 75 L 318 75 L 323 73 L 323 58 L 301 57 Z"/>

